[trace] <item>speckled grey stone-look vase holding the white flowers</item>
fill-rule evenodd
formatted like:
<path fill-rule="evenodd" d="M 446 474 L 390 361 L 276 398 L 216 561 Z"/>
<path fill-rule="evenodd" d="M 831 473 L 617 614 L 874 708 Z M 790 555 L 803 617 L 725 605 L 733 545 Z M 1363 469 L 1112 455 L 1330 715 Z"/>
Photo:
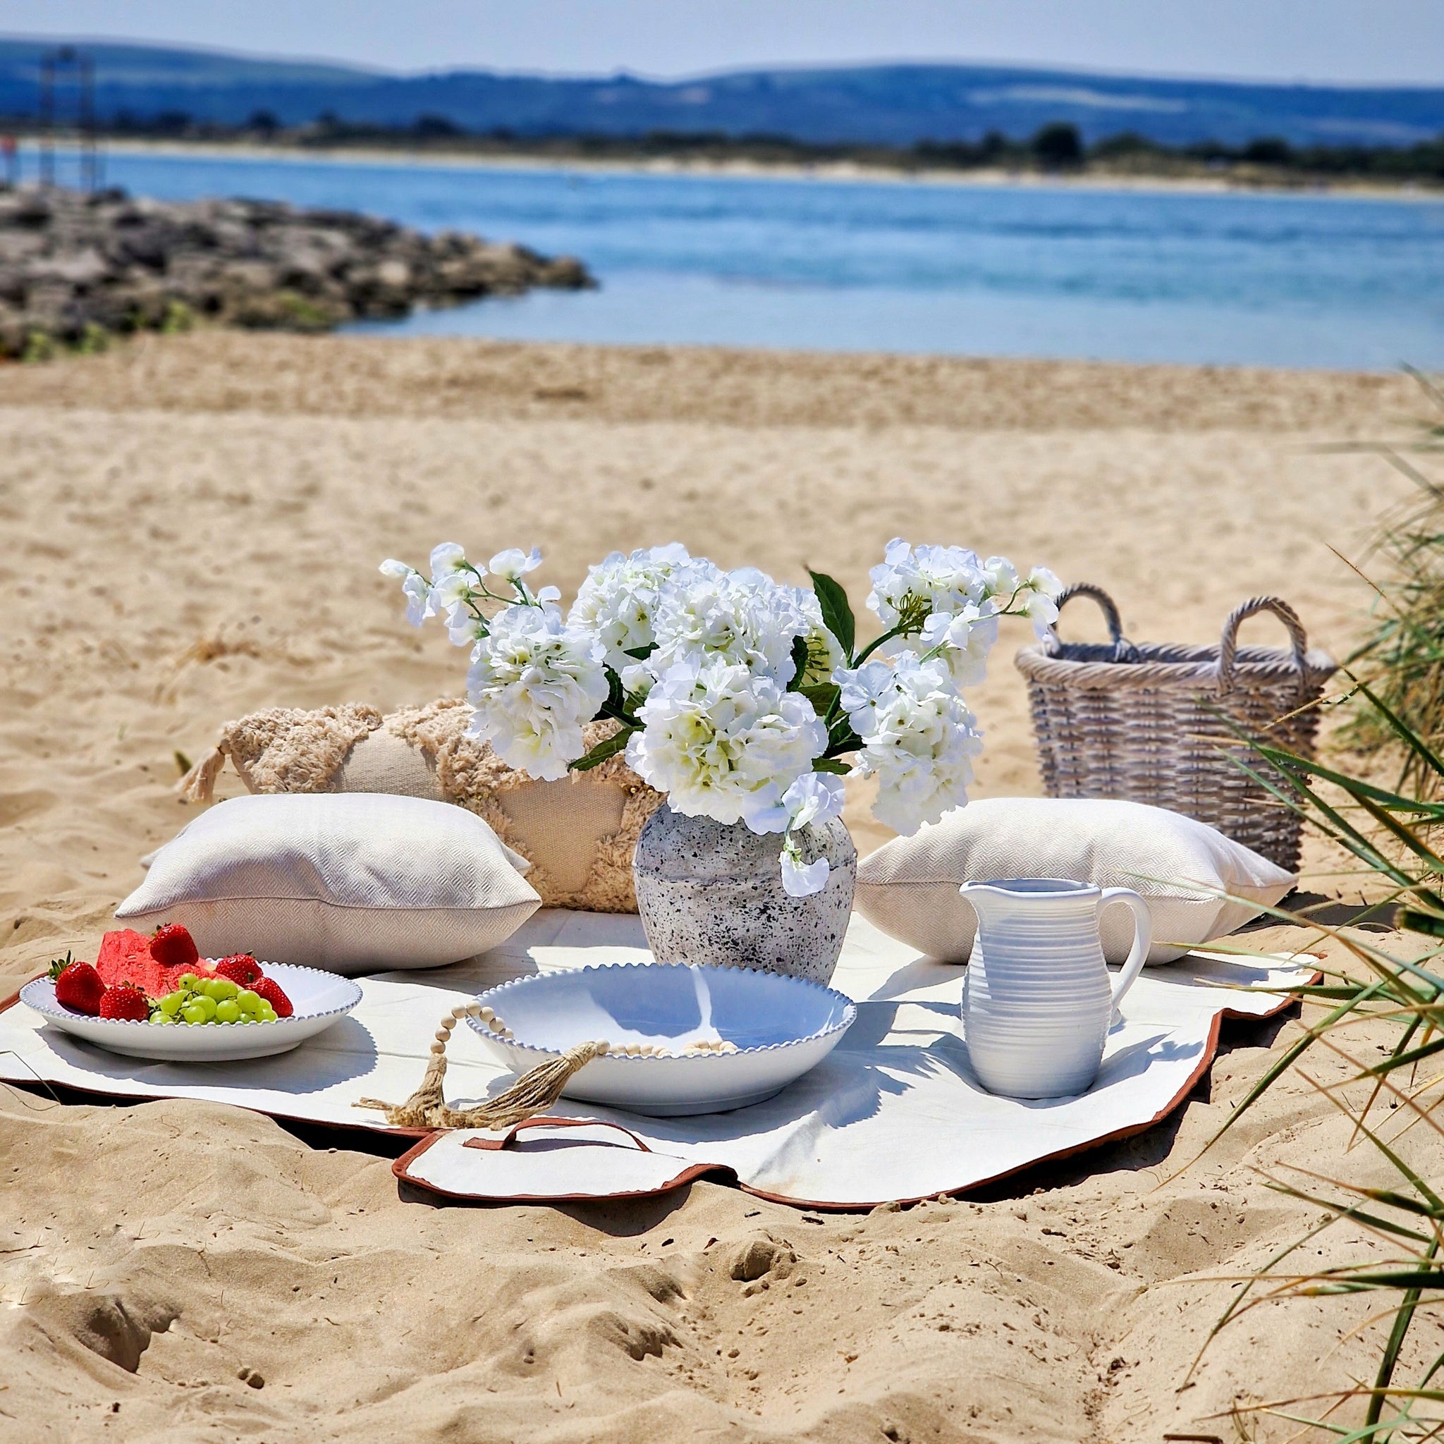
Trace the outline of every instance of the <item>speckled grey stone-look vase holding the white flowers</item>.
<path fill-rule="evenodd" d="M 666 803 L 637 840 L 637 911 L 658 963 L 760 967 L 827 983 L 858 881 L 858 849 L 840 819 L 799 829 L 803 859 L 832 864 L 812 897 L 783 891 L 780 833 L 684 817 Z"/>

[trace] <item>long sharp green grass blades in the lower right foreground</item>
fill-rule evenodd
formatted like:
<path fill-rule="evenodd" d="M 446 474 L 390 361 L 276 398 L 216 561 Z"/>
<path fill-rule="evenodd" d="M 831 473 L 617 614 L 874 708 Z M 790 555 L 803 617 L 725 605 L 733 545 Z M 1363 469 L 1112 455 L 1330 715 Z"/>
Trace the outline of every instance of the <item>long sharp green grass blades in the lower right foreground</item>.
<path fill-rule="evenodd" d="M 1406 651 L 1405 658 L 1412 666 L 1415 653 Z M 1414 697 L 1388 669 L 1382 684 Z M 1379 1304 L 1370 1321 L 1389 1324 L 1372 1380 L 1350 1380 L 1333 1395 L 1278 1399 L 1240 1412 L 1269 1412 L 1326 1431 L 1341 1444 L 1376 1444 L 1435 1438 L 1444 1430 L 1437 1411 L 1431 1417 L 1419 1412 L 1421 1406 L 1444 1405 L 1444 1352 L 1427 1357 L 1425 1350 L 1411 1378 L 1399 1375 L 1419 1311 L 1444 1304 L 1444 1197 L 1437 1180 L 1428 1177 L 1428 1144 L 1444 1139 L 1444 1073 L 1437 1067 L 1444 1054 L 1444 856 L 1438 846 L 1444 829 L 1444 758 L 1369 683 L 1354 682 L 1353 697 L 1369 709 L 1367 725 L 1383 739 L 1379 745 L 1406 758 L 1404 777 L 1412 786 L 1378 787 L 1265 742 L 1255 744 L 1262 765 L 1240 765 L 1379 881 L 1385 897 L 1372 911 L 1392 913 L 1399 931 L 1391 941 L 1395 947 L 1404 941 L 1415 956 L 1385 950 L 1354 928 L 1313 924 L 1320 939 L 1341 946 L 1347 962 L 1343 967 L 1323 967 L 1323 980 L 1288 992 L 1304 1005 L 1323 1008 L 1323 1017 L 1305 1025 L 1302 1037 L 1262 1074 L 1207 1147 L 1281 1079 L 1292 1076 L 1350 1121 L 1350 1149 L 1373 1149 L 1386 1165 L 1386 1183 L 1336 1177 L 1333 1168 L 1268 1174 L 1269 1188 L 1321 1210 L 1318 1222 L 1256 1272 L 1233 1281 L 1242 1288 L 1209 1339 L 1265 1302 L 1369 1295 Z M 1311 923 L 1307 913 L 1274 913 L 1282 921 Z M 1380 1051 L 1378 1025 L 1391 1041 L 1382 1045 L 1382 1057 L 1369 1057 L 1366 1050 Z M 1311 1056 L 1317 1054 L 1343 1064 L 1341 1074 L 1327 1080 L 1314 1067 Z M 1424 1147 L 1417 1147 L 1419 1131 Z M 1305 1249 L 1337 1225 L 1362 1230 L 1375 1249 L 1327 1268 L 1300 1266 Z M 1362 1419 L 1336 1422 L 1331 1417 L 1350 1401 L 1363 1401 Z M 1323 1414 L 1301 1412 L 1320 1402 L 1328 1404 Z"/>

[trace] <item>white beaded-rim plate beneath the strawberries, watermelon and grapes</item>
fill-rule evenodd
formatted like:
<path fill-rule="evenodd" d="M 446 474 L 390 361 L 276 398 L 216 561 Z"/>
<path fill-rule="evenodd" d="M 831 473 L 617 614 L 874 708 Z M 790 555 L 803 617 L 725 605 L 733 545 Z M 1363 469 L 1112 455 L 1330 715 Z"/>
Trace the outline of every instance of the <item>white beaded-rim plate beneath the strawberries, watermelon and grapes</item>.
<path fill-rule="evenodd" d="M 20 1001 L 46 1022 L 85 1043 L 160 1063 L 228 1063 L 287 1053 L 334 1027 L 361 1001 L 361 988 L 351 978 L 295 963 L 263 962 L 258 966 L 290 999 L 292 1017 L 274 1022 L 205 1024 L 91 1018 L 62 1008 L 55 1001 L 55 983 L 49 978 L 27 982 L 20 989 Z"/>

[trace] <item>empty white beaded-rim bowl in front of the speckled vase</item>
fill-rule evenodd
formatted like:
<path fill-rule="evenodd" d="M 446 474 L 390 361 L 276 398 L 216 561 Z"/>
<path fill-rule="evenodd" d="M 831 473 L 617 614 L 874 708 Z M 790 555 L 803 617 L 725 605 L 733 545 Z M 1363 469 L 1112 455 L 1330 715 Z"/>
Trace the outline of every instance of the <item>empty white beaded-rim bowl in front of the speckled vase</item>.
<path fill-rule="evenodd" d="M 718 1113 L 760 1103 L 814 1069 L 852 1027 L 840 992 L 801 978 L 686 963 L 601 963 L 501 983 L 478 999 L 511 1037 L 468 1024 L 514 1073 L 605 1038 L 563 1096 L 634 1113 Z M 726 1051 L 689 1051 L 703 1043 Z M 645 1047 L 643 1056 L 621 1051 Z"/>

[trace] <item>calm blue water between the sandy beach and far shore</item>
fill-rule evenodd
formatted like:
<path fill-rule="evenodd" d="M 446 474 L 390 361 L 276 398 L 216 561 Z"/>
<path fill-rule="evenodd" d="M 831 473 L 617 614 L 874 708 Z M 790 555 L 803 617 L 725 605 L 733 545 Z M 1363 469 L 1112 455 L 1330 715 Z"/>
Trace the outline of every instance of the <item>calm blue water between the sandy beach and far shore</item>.
<path fill-rule="evenodd" d="M 168 199 L 348 206 L 580 256 L 355 329 L 1285 367 L 1444 367 L 1444 199 L 110 155 Z"/>

